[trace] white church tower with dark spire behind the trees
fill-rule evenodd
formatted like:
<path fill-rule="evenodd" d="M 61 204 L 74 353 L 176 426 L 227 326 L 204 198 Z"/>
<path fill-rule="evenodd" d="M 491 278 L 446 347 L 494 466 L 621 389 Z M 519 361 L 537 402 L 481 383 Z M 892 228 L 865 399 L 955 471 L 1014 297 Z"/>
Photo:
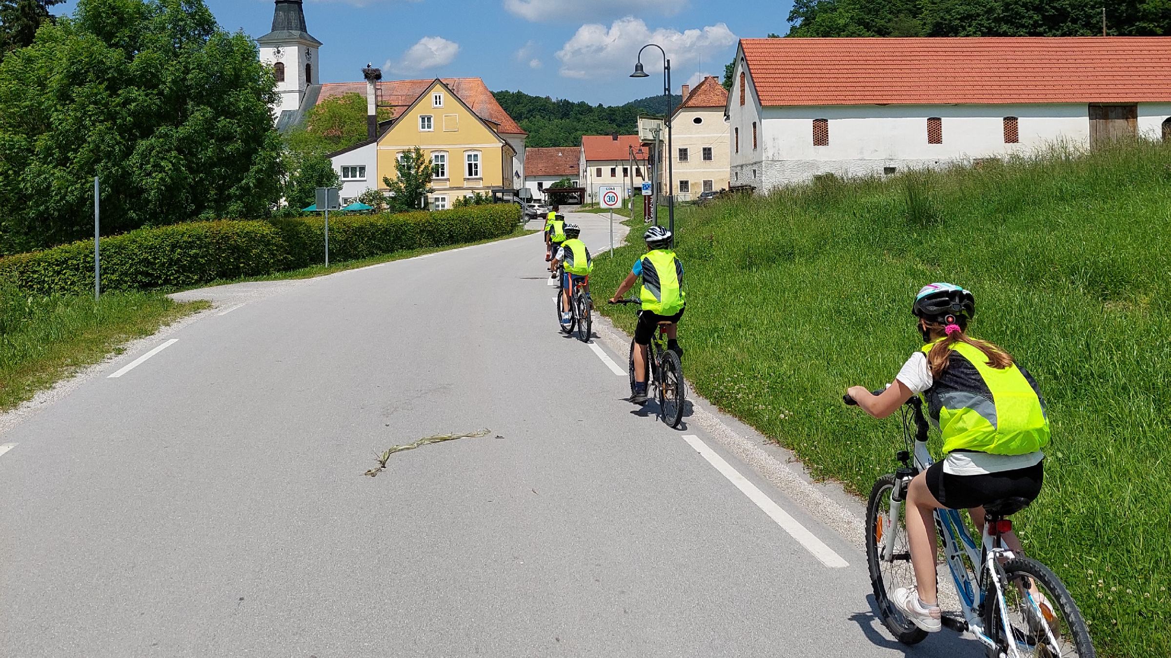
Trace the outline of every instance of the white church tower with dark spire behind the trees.
<path fill-rule="evenodd" d="M 274 118 L 280 118 L 285 111 L 296 111 L 309 85 L 321 84 L 317 73 L 317 49 L 321 48 L 321 41 L 306 32 L 301 0 L 276 0 L 273 30 L 256 42 L 260 44 L 260 61 L 276 71 L 280 101 L 273 108 Z"/>

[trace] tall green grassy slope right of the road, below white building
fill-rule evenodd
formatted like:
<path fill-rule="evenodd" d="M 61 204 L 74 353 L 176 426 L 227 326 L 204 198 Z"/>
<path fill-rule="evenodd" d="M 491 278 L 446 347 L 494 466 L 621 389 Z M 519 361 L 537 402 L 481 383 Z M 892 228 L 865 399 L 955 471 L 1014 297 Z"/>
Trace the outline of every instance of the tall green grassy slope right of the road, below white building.
<path fill-rule="evenodd" d="M 923 283 L 975 292 L 974 335 L 1049 404 L 1046 488 L 1016 521 L 1103 656 L 1171 656 L 1171 148 L 828 180 L 678 213 L 685 369 L 698 392 L 857 493 L 893 420 L 841 404 L 919 347 Z M 636 232 L 637 233 L 637 232 Z M 598 259 L 612 290 L 641 247 Z M 602 307 L 623 328 L 632 314 Z"/>

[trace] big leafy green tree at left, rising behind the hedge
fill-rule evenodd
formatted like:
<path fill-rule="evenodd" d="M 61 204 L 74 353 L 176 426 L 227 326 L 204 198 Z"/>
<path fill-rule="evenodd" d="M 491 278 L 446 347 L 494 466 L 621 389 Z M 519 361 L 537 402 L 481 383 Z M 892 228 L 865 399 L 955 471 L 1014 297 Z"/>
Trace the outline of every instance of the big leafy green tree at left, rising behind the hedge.
<path fill-rule="evenodd" d="M 0 62 L 2 229 L 34 246 L 93 234 L 94 176 L 105 233 L 267 214 L 274 88 L 203 0 L 80 0 Z"/>

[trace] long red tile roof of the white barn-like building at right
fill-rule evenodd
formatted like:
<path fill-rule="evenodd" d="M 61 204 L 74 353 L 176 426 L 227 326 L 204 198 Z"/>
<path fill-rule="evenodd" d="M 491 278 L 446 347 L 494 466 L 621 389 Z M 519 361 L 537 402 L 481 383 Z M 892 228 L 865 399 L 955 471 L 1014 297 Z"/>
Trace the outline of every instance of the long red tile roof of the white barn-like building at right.
<path fill-rule="evenodd" d="M 1171 37 L 745 39 L 763 105 L 1171 101 Z"/>

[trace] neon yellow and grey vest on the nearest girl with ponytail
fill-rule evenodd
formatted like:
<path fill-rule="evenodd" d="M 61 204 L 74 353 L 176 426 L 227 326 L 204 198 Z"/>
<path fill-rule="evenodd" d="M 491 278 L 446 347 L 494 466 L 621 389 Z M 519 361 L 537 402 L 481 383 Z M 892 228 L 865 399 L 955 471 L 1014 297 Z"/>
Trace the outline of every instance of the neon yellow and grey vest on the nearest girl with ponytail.
<path fill-rule="evenodd" d="M 923 352 L 934 345 L 923 345 Z M 1028 454 L 1049 445 L 1045 402 L 1027 371 L 1016 364 L 992 368 L 982 351 L 964 342 L 952 344 L 951 351 L 947 368 L 923 393 L 927 414 L 943 434 L 944 454 Z"/>

